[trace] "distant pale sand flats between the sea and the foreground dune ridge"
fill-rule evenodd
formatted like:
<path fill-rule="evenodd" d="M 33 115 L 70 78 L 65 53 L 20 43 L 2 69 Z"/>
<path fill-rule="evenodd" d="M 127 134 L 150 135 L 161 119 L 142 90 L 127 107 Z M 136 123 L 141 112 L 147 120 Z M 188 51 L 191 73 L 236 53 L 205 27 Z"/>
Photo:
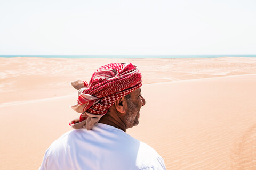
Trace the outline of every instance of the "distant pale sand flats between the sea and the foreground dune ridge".
<path fill-rule="evenodd" d="M 256 73 L 256 58 L 64 59 L 0 58 L 0 104 L 72 94 L 70 81 L 89 81 L 100 66 L 132 62 L 143 84 Z M 14 96 L 14 97 L 12 97 Z"/>

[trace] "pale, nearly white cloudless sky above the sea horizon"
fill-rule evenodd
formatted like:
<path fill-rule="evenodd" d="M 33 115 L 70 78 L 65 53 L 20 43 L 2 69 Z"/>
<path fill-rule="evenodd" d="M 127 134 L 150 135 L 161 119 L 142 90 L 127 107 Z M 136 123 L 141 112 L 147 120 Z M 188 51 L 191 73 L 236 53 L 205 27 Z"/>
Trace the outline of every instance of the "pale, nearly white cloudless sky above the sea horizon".
<path fill-rule="evenodd" d="M 256 54 L 256 1 L 0 0 L 3 54 Z"/>

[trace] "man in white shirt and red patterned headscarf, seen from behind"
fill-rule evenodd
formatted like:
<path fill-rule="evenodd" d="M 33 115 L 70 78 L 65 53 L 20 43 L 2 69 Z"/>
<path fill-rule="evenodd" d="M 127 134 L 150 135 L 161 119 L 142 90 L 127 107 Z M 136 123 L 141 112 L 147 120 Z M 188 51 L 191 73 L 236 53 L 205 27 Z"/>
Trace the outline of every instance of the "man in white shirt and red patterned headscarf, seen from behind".
<path fill-rule="evenodd" d="M 39 169 L 166 169 L 153 148 L 125 133 L 138 125 L 146 103 L 136 66 L 108 64 L 93 73 L 89 84 L 71 84 L 79 90 L 71 108 L 80 118 L 70 123 L 75 130 L 46 150 Z"/>

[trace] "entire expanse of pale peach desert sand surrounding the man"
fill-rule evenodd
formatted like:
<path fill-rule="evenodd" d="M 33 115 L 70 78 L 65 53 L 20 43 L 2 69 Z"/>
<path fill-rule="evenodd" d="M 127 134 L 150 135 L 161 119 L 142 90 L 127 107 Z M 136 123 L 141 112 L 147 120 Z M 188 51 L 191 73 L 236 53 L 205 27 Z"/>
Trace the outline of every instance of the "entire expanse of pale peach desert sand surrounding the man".
<path fill-rule="evenodd" d="M 132 62 L 146 105 L 127 133 L 167 169 L 256 169 L 256 58 L 0 58 L 0 169 L 38 169 L 79 114 L 70 81 L 101 65 Z"/>

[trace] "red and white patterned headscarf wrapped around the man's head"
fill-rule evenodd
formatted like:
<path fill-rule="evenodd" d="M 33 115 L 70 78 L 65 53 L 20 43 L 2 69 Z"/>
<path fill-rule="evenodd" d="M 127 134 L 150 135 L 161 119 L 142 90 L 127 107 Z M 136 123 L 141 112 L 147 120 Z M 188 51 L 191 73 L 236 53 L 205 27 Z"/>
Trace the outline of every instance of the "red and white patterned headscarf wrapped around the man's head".
<path fill-rule="evenodd" d="M 79 90 L 77 104 L 71 108 L 81 115 L 70 126 L 90 130 L 116 100 L 141 87 L 141 73 L 132 63 L 111 63 L 95 71 L 89 84 L 82 80 L 71 84 Z"/>

